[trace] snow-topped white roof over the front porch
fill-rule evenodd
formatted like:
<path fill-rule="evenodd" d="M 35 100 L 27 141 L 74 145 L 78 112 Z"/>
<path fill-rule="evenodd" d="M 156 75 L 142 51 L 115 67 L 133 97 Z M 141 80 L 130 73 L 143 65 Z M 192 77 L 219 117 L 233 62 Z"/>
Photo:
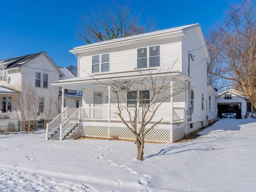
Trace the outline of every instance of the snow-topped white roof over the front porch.
<path fill-rule="evenodd" d="M 150 70 L 150 71 L 149 71 Z M 180 73 L 180 71 L 173 70 L 173 71 L 163 71 L 159 69 L 149 69 L 150 75 L 155 75 L 157 77 L 163 77 L 163 76 L 177 76 L 180 80 L 185 81 L 191 81 L 191 78 Z M 147 71 L 147 70 L 143 70 Z M 147 75 L 147 73 L 143 73 L 143 75 Z M 149 75 L 149 74 L 148 74 Z M 109 74 L 96 74 L 92 76 L 85 76 L 85 77 L 75 77 L 75 78 L 69 78 L 69 79 L 62 79 L 59 81 L 56 81 L 55 83 L 52 83 L 52 85 L 55 86 L 63 86 L 63 87 L 68 87 L 68 86 L 76 86 L 76 87 L 83 87 L 84 84 L 92 84 L 92 85 L 97 85 L 99 82 L 109 82 L 117 79 L 134 79 L 134 78 L 140 78 L 142 76 L 141 71 L 127 71 L 127 72 L 122 72 L 122 73 L 109 73 Z"/>

